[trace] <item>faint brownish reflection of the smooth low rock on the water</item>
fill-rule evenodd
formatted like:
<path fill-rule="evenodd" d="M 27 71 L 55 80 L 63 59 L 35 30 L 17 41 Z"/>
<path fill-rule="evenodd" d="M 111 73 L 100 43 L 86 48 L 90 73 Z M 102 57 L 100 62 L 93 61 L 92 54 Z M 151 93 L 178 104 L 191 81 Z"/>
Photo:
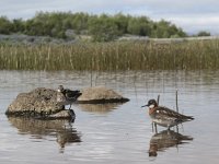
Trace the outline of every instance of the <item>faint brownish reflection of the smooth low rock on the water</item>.
<path fill-rule="evenodd" d="M 123 103 L 107 103 L 107 104 L 79 104 L 79 107 L 84 112 L 106 114 L 113 109 L 118 108 Z"/>

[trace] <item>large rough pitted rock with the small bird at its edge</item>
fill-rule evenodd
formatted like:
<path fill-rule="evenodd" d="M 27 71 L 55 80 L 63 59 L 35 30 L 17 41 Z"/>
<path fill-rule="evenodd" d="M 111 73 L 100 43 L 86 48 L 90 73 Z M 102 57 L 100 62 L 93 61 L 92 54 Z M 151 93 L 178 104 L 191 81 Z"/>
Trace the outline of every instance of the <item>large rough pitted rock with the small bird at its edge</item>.
<path fill-rule="evenodd" d="M 35 89 L 30 93 L 21 93 L 10 104 L 5 114 L 44 119 L 72 118 L 72 113 L 57 103 L 57 91 L 45 87 Z"/>

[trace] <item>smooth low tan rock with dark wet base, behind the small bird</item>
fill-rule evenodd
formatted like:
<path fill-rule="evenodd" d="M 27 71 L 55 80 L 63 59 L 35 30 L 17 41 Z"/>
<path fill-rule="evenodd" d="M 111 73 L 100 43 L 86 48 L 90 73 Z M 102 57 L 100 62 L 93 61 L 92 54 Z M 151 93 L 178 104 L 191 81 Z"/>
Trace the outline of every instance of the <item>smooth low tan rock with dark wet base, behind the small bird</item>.
<path fill-rule="evenodd" d="M 81 104 L 125 103 L 129 99 L 104 86 L 88 87 L 78 98 Z"/>

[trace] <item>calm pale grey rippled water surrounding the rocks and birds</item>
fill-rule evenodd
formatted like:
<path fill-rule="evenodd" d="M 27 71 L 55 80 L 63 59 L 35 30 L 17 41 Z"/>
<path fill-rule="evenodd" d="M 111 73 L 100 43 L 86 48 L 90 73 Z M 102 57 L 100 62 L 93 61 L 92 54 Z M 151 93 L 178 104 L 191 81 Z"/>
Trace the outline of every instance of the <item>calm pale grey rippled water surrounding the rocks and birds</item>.
<path fill-rule="evenodd" d="M 0 163 L 219 163 L 219 71 L 0 71 Z M 73 124 L 4 115 L 19 93 L 59 84 L 72 90 L 104 85 L 130 102 L 74 105 Z M 175 108 L 176 90 L 180 112 L 195 120 L 180 126 L 178 133 L 159 127 L 155 134 L 140 106 L 160 94 L 160 104 Z"/>

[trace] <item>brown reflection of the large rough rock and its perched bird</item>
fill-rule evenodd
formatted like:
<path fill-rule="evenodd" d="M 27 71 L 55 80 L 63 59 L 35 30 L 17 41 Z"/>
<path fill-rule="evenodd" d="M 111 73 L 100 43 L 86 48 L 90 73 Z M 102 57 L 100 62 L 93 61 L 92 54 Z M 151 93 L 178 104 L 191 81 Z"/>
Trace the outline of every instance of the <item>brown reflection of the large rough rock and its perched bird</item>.
<path fill-rule="evenodd" d="M 8 117 L 11 125 L 19 129 L 20 134 L 32 134 L 35 139 L 45 136 L 56 138 L 61 151 L 66 144 L 81 142 L 81 137 L 69 120 L 39 120 L 33 118 Z"/>

